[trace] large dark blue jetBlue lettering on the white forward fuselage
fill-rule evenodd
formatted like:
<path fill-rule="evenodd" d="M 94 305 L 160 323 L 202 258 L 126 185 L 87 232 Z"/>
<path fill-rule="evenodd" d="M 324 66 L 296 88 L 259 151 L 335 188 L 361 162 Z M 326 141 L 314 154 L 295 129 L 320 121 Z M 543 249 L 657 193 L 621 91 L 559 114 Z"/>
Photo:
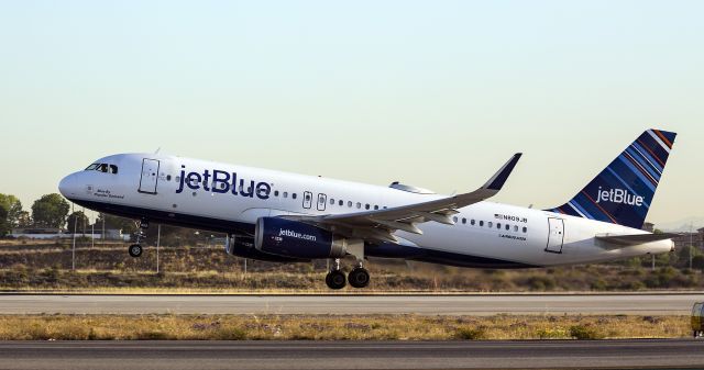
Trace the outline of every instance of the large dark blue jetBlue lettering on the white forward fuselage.
<path fill-rule="evenodd" d="M 255 184 L 254 180 L 245 182 L 244 179 L 240 179 L 238 183 L 238 173 L 237 172 L 227 172 L 218 169 L 213 169 L 212 171 L 205 170 L 202 173 L 199 172 L 188 172 L 184 169 L 185 166 L 182 166 L 180 170 L 180 180 L 178 183 L 178 189 L 176 189 L 176 193 L 180 193 L 184 191 L 184 188 L 189 188 L 193 190 L 198 190 L 202 187 L 205 191 L 212 191 L 215 193 L 228 193 L 231 192 L 233 195 L 242 195 L 258 199 L 268 199 L 272 187 L 266 182 L 257 182 Z"/>

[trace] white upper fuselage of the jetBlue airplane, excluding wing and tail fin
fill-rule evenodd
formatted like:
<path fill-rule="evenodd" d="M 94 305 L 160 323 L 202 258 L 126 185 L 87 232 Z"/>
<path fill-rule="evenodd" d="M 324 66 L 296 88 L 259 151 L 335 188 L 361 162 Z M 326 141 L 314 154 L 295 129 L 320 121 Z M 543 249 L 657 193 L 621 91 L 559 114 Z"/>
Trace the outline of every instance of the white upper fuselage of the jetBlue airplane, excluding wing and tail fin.
<path fill-rule="evenodd" d="M 154 178 L 150 178 L 148 168 L 143 169 L 145 158 L 153 160 L 151 165 L 158 168 L 153 168 Z M 250 233 L 262 216 L 349 214 L 442 198 L 438 194 L 166 155 L 127 154 L 98 161 L 117 166 L 118 173 L 95 170 L 75 172 L 62 181 L 62 193 L 100 212 L 134 217 L 146 212 L 156 222 L 228 233 Z M 216 170 L 219 171 L 219 178 L 212 176 Z M 228 173 L 227 184 L 223 173 Z M 233 173 L 237 173 L 234 186 Z M 421 235 L 406 232 L 395 235 L 403 245 L 409 247 L 526 267 L 606 261 L 672 249 L 671 240 L 604 248 L 595 235 L 645 232 L 493 202 L 480 202 L 460 209 L 455 217 L 454 225 L 436 222 L 419 224 Z"/>

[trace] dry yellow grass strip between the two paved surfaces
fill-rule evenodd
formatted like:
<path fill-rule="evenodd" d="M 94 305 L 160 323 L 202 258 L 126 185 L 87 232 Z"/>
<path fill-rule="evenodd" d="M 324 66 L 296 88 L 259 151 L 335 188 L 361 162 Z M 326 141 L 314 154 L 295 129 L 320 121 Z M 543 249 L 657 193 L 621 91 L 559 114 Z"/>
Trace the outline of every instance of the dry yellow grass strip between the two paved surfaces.
<path fill-rule="evenodd" d="M 676 338 L 688 316 L 3 315 L 0 340 Z"/>

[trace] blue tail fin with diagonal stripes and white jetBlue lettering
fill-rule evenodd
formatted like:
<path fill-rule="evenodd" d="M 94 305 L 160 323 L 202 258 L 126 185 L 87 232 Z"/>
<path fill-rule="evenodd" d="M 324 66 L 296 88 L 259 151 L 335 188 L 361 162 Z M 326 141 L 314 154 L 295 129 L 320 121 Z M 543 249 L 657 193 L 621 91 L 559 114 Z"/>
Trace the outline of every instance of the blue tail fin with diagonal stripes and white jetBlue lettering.
<path fill-rule="evenodd" d="M 571 201 L 547 211 L 641 228 L 675 136 L 646 131 Z"/>

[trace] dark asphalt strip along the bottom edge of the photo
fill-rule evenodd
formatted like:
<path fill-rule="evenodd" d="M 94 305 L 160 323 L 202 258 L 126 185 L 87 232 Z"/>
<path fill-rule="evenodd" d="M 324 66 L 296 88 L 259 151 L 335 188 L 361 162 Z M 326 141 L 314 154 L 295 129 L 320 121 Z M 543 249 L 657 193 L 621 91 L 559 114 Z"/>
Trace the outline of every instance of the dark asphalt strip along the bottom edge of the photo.
<path fill-rule="evenodd" d="M 470 369 L 704 366 L 704 340 L 14 341 L 0 369 Z"/>

